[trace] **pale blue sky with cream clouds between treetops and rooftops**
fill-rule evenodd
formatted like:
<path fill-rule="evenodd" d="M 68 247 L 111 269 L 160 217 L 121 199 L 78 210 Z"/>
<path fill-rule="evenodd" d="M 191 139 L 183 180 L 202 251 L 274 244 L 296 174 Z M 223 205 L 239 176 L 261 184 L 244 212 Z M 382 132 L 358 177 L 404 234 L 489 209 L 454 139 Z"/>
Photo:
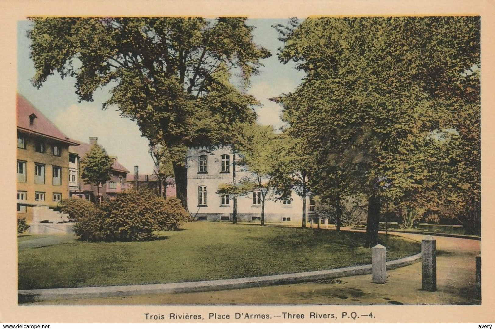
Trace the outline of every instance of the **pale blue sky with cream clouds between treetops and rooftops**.
<path fill-rule="evenodd" d="M 277 40 L 277 32 L 271 26 L 285 24 L 287 19 L 249 19 L 255 27 L 254 42 L 269 49 L 270 58 L 262 60 L 260 74 L 251 79 L 249 94 L 254 95 L 261 106 L 256 110 L 258 122 L 279 128 L 281 107 L 268 100 L 269 97 L 294 91 L 303 74 L 294 68 L 294 63 L 282 64 L 277 58 L 277 49 L 282 43 Z M 140 173 L 151 173 L 153 162 L 148 154 L 148 141 L 141 137 L 137 125 L 129 119 L 121 118 L 116 108 L 101 110 L 101 104 L 108 99 L 107 89 L 94 95 L 93 102 L 79 102 L 75 94 L 75 80 L 50 76 L 38 90 L 31 85 L 35 69 L 29 58 L 30 40 L 26 31 L 31 23 L 18 23 L 18 82 L 19 94 L 25 96 L 40 109 L 58 128 L 72 139 L 88 142 L 96 136 L 108 154 L 117 156 L 118 161 L 131 172 L 138 165 Z"/>

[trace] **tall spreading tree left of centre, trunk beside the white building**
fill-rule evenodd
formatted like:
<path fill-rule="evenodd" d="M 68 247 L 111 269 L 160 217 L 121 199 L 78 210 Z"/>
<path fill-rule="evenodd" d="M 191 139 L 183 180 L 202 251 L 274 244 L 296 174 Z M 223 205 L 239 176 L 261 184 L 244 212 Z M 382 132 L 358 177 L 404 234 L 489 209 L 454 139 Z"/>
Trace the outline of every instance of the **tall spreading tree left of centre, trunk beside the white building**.
<path fill-rule="evenodd" d="M 76 94 L 86 101 L 109 86 L 111 97 L 103 107 L 116 105 L 137 122 L 152 147 L 168 149 L 185 206 L 187 149 L 222 142 L 232 122 L 254 121 L 256 101 L 243 90 L 270 53 L 252 42 L 253 28 L 245 18 L 31 20 L 34 86 L 41 87 L 51 74 L 74 77 Z"/>

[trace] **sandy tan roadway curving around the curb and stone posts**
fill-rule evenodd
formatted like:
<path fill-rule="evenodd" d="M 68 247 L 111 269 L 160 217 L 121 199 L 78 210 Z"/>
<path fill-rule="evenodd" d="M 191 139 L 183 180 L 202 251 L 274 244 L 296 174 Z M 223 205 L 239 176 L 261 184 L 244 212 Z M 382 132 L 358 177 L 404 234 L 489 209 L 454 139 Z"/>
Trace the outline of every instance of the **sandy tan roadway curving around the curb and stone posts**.
<path fill-rule="evenodd" d="M 420 241 L 425 235 L 395 233 Z M 55 300 L 37 304 L 479 304 L 475 291 L 475 256 L 480 241 L 453 237 L 437 240 L 436 292 L 421 290 L 421 263 L 388 271 L 386 284 L 371 275 L 223 291 L 147 294 L 130 297 Z"/>

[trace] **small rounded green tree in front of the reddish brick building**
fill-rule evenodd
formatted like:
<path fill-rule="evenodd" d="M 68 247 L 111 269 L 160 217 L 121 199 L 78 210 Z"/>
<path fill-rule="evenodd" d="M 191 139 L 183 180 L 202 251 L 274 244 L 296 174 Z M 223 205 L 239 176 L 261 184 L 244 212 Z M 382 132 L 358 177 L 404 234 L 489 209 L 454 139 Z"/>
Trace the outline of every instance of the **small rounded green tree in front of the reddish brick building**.
<path fill-rule="evenodd" d="M 113 159 L 108 156 L 105 149 L 95 143 L 81 159 L 81 178 L 86 183 L 97 186 L 104 184 L 112 175 L 112 164 Z"/>

